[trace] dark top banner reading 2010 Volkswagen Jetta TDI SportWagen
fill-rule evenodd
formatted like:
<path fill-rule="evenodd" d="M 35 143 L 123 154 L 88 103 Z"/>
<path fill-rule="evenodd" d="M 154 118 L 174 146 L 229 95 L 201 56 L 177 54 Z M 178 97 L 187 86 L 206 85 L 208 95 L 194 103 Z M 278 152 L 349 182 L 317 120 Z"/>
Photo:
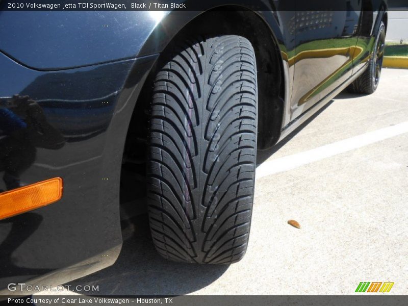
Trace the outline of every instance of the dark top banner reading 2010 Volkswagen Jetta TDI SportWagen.
<path fill-rule="evenodd" d="M 402 5 L 401 3 L 402 2 Z M 408 0 L 388 10 L 408 11 Z M 362 3 L 362 5 L 361 5 Z M 405 3 L 405 4 L 404 4 Z M 377 11 L 385 0 L 0 0 L 3 11 Z"/>

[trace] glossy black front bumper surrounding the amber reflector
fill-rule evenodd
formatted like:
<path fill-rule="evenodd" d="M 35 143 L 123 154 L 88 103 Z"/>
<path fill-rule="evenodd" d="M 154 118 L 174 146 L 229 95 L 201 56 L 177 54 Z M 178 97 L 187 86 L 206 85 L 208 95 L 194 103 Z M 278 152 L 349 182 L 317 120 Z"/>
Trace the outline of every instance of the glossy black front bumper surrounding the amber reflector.
<path fill-rule="evenodd" d="M 111 260 L 104 258 L 105 251 L 121 244 L 117 144 L 124 142 L 132 95 L 156 58 L 45 72 L 0 55 L 2 96 L 28 95 L 42 110 L 40 120 L 58 132 L 57 137 L 45 134 L 54 139 L 44 146 L 24 133 L 29 127 L 3 131 L 2 176 L 11 173 L 20 185 L 57 176 L 64 181 L 57 203 L 0 220 L 1 288 L 90 257 L 100 264 Z M 9 108 L 21 112 L 17 109 Z M 29 121 L 30 112 L 25 116 Z M 38 122 L 37 117 L 31 121 Z M 10 186 L 0 180 L 0 189 Z"/>

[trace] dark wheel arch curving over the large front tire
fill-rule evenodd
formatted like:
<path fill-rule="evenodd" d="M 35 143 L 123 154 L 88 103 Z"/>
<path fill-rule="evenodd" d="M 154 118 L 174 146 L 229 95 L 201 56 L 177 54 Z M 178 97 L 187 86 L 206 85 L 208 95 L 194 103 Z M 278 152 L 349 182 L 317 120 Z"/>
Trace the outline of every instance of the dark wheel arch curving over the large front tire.
<path fill-rule="evenodd" d="M 139 55 L 152 53 L 154 49 L 162 52 L 174 39 L 191 34 L 232 34 L 247 38 L 257 59 L 258 148 L 266 149 L 281 136 L 288 86 L 280 49 L 282 43 L 278 43 L 284 41 L 282 25 L 279 26 L 276 14 L 272 11 L 254 12 L 240 6 L 220 6 L 195 16 L 191 12 L 184 15 L 170 12 L 146 39 Z M 156 67 L 150 75 L 155 71 Z M 147 78 L 144 87 L 149 88 L 151 82 L 152 77 Z M 141 94 L 138 100 L 146 101 L 146 95 Z"/>

